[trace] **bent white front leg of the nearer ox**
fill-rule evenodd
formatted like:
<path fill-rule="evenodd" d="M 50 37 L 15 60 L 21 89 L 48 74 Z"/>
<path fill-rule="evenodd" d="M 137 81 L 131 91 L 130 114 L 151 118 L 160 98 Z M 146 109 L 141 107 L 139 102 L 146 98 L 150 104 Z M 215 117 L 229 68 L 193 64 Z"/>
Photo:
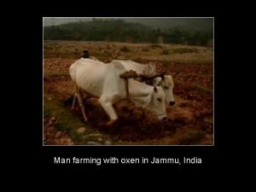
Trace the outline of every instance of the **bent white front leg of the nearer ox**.
<path fill-rule="evenodd" d="M 117 114 L 115 113 L 115 110 L 113 108 L 112 102 L 108 101 L 107 98 L 101 97 L 99 99 L 99 102 L 102 104 L 102 108 L 105 110 L 106 113 L 108 113 L 109 121 L 106 123 L 107 126 L 113 125 L 114 122 L 118 119 Z"/>

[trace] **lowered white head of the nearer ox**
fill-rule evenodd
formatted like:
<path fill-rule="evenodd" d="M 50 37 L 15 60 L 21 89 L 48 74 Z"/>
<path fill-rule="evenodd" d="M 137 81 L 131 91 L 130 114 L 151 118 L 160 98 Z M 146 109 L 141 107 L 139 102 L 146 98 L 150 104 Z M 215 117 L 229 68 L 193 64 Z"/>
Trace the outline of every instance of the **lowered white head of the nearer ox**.
<path fill-rule="evenodd" d="M 166 119 L 165 92 L 160 86 L 154 86 L 152 89 L 151 101 L 149 102 L 147 108 L 153 111 L 158 119 Z"/>

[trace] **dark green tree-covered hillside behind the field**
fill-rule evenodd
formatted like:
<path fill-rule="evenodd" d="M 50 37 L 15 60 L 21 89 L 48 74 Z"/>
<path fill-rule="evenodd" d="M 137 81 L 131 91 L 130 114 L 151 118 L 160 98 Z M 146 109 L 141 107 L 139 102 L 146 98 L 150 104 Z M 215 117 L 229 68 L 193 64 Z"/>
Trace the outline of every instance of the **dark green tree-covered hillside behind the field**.
<path fill-rule="evenodd" d="M 44 40 L 114 41 L 212 46 L 212 30 L 155 29 L 125 20 L 91 20 L 44 26 Z"/>

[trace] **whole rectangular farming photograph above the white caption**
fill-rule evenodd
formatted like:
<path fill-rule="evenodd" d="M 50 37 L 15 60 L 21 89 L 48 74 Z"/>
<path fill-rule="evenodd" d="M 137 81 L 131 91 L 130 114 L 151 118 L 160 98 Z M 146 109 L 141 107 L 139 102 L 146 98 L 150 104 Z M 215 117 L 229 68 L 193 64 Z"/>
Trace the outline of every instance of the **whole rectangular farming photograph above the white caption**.
<path fill-rule="evenodd" d="M 42 17 L 49 146 L 214 146 L 214 17 Z"/>

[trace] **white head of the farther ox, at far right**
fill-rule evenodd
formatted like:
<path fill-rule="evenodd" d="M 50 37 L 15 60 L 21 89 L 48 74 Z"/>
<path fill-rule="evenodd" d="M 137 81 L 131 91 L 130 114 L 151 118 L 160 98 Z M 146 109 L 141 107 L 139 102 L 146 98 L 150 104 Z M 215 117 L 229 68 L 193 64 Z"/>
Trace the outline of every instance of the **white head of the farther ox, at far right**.
<path fill-rule="evenodd" d="M 177 76 L 177 73 L 173 75 L 173 78 Z M 174 105 L 175 99 L 173 96 L 173 82 L 172 75 L 161 75 L 154 79 L 154 86 L 161 86 L 166 94 L 166 104 L 167 105 Z"/>

